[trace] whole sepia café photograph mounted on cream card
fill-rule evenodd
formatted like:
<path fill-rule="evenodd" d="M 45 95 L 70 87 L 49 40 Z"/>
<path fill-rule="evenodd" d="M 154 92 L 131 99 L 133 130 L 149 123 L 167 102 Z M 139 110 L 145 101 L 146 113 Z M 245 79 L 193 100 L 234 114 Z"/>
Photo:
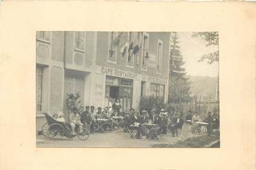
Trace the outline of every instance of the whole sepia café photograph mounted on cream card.
<path fill-rule="evenodd" d="M 36 144 L 220 148 L 219 33 L 37 31 Z"/>

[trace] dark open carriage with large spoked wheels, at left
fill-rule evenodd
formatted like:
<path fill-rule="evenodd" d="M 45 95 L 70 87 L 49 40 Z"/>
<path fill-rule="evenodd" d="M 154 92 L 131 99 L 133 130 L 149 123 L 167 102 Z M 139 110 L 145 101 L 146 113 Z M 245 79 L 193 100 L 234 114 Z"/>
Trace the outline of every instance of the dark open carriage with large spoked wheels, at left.
<path fill-rule="evenodd" d="M 72 133 L 72 130 L 70 129 L 68 124 L 56 121 L 48 114 L 44 115 L 46 117 L 47 122 L 43 124 L 42 132 L 44 137 L 48 139 L 61 139 L 63 136 L 65 136 L 68 139 L 72 139 L 75 136 L 77 136 L 80 140 L 86 140 L 90 135 L 89 131 L 86 130 L 86 128 L 83 128 L 83 124 L 79 124 L 79 126 L 75 128 L 75 132 L 77 134 L 74 134 Z"/>

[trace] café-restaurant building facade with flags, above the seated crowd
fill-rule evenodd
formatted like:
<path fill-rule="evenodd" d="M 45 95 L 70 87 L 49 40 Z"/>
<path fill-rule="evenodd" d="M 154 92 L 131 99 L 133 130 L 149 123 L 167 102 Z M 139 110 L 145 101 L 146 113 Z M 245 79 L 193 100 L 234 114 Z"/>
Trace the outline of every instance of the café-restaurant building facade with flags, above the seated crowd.
<path fill-rule="evenodd" d="M 119 99 L 123 112 L 141 96 L 167 101 L 169 55 L 167 32 L 37 31 L 37 132 L 44 112 L 68 119 L 67 93 L 80 92 L 84 106 Z"/>

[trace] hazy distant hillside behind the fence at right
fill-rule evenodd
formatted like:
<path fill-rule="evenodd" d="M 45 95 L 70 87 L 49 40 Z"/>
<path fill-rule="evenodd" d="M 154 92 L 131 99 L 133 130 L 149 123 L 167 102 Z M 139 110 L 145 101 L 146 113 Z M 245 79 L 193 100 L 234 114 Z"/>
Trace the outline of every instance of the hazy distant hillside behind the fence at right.
<path fill-rule="evenodd" d="M 208 77 L 208 76 L 191 76 L 188 75 L 190 81 L 192 82 L 190 91 L 193 94 L 197 94 L 200 98 L 206 98 L 210 96 L 210 99 L 215 99 L 216 87 L 218 78 L 217 77 Z"/>

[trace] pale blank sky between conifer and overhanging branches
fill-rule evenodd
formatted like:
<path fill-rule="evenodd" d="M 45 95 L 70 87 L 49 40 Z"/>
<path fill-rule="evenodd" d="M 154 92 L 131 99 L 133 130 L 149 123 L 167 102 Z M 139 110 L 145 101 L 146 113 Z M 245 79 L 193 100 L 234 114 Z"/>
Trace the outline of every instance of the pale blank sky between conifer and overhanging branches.
<path fill-rule="evenodd" d="M 185 62 L 183 67 L 187 74 L 192 76 L 217 77 L 219 62 L 208 64 L 206 61 L 197 62 L 202 55 L 215 51 L 216 47 L 206 47 L 206 41 L 199 37 L 192 37 L 191 32 L 178 32 L 179 46 L 182 60 Z"/>

